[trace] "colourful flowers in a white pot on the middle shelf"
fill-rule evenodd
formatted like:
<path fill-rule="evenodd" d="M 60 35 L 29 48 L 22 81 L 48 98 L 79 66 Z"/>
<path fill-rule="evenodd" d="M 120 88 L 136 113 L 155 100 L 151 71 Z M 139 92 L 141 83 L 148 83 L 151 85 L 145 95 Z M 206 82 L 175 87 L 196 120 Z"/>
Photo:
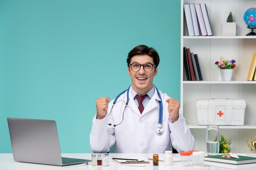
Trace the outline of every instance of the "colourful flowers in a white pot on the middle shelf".
<path fill-rule="evenodd" d="M 223 81 L 230 81 L 232 77 L 233 68 L 236 67 L 236 60 L 226 60 L 220 56 L 220 61 L 215 64 L 220 68 L 220 75 Z"/>

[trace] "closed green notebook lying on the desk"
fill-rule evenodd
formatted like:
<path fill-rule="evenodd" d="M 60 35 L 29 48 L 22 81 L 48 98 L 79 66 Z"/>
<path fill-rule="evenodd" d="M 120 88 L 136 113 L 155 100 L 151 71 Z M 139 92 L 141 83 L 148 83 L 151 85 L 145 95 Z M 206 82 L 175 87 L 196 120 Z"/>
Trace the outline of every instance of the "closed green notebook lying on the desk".
<path fill-rule="evenodd" d="M 230 164 L 246 164 L 246 163 L 256 163 L 256 157 L 245 157 L 238 155 L 239 158 L 227 158 L 221 157 L 222 155 L 212 155 L 206 156 L 205 161 L 221 162 L 221 163 L 230 163 Z M 256 155 L 255 155 L 256 156 Z"/>

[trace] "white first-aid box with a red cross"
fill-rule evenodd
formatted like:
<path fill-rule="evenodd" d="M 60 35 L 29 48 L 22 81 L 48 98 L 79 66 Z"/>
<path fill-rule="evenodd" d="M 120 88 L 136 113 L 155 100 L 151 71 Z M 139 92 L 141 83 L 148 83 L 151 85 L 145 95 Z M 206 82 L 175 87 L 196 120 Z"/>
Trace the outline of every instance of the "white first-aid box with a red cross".
<path fill-rule="evenodd" d="M 243 125 L 246 102 L 243 99 L 198 99 L 198 125 Z"/>

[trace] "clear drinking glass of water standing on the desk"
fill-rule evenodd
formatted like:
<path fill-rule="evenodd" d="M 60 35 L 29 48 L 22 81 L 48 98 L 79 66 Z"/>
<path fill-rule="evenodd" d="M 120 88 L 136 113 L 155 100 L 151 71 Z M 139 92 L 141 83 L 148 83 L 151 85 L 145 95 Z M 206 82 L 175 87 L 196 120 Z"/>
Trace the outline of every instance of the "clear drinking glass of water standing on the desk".
<path fill-rule="evenodd" d="M 218 155 L 220 150 L 219 126 L 207 126 L 206 130 L 206 148 L 208 155 Z"/>

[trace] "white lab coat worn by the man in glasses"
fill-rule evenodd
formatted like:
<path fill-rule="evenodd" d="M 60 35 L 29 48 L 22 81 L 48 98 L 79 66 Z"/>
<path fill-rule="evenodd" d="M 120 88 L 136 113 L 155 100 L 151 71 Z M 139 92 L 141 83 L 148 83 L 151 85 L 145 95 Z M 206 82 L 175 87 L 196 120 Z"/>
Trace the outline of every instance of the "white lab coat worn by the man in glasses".
<path fill-rule="evenodd" d="M 94 116 L 90 133 L 92 152 L 106 153 L 113 144 L 116 144 L 116 153 L 164 153 L 165 150 L 171 150 L 170 139 L 173 148 L 178 152 L 194 150 L 194 137 L 186 126 L 181 110 L 179 111 L 179 119 L 172 123 L 167 111 L 168 103 L 165 102 L 170 97 L 161 91 L 159 93 L 163 103 L 163 135 L 159 136 L 156 133 L 160 100 L 156 88 L 142 114 L 129 91 L 130 99 L 124 112 L 124 120 L 119 126 L 114 127 L 113 125 L 122 121 L 127 92 L 117 99 L 111 113 L 114 100 L 109 102 L 109 116 L 103 119 L 96 119 L 97 115 Z"/>

